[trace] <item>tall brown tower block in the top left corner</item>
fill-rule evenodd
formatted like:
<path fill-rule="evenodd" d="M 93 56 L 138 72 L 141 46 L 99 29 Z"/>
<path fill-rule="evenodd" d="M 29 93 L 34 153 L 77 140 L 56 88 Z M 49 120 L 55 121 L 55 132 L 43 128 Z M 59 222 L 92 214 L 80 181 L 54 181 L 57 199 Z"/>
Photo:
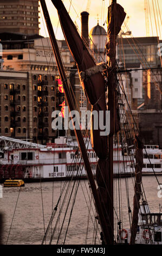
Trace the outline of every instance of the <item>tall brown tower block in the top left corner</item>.
<path fill-rule="evenodd" d="M 38 0 L 1 0 L 0 33 L 39 34 Z"/>

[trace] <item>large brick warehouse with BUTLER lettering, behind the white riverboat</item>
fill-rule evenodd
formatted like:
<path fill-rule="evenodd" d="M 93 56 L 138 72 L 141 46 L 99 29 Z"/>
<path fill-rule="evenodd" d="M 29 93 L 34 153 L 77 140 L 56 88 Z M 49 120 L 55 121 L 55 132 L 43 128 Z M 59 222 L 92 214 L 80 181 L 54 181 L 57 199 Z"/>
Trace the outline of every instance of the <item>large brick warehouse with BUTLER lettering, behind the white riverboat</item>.
<path fill-rule="evenodd" d="M 57 133 L 51 129 L 51 113 L 61 110 L 64 95 L 57 87 L 59 73 L 49 38 L 15 33 L 1 33 L 0 38 L 4 59 L 0 71 L 1 135 L 38 139 L 42 144 L 54 142 Z M 69 50 L 64 41 L 58 44 L 69 70 Z"/>

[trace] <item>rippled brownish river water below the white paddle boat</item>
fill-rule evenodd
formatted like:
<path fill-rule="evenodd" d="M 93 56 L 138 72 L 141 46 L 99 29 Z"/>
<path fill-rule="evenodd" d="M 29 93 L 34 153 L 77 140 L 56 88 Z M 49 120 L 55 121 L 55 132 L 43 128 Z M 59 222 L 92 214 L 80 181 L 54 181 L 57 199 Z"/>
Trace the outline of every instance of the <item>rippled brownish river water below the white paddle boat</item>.
<path fill-rule="evenodd" d="M 158 180 L 162 184 L 162 176 L 158 176 Z M 127 181 L 129 188 L 129 202 L 131 209 L 133 209 L 132 203 L 134 192 L 132 178 L 128 178 Z M 150 206 L 150 210 L 152 212 L 159 212 L 159 204 L 162 205 L 162 198 L 159 198 L 157 194 L 157 180 L 155 179 L 154 176 L 144 176 L 142 181 L 146 193 L 146 198 Z M 118 184 L 117 179 L 115 179 L 114 182 L 115 185 Z M 1 243 L 41 244 L 44 236 L 44 229 L 47 228 L 48 222 L 50 220 L 52 207 L 54 208 L 54 206 L 57 204 L 58 198 L 60 196 L 60 191 L 62 190 L 63 186 L 66 185 L 66 189 L 63 192 L 63 197 L 61 198 L 58 204 L 57 213 L 54 218 L 52 228 L 49 231 L 50 237 L 52 230 L 55 227 L 57 216 L 59 212 L 62 212 L 62 217 L 60 217 L 60 220 L 58 221 L 56 233 L 54 234 L 54 240 L 52 242 L 53 244 L 56 243 L 62 227 L 63 216 L 64 214 L 66 214 L 70 193 L 72 192 L 72 190 L 73 192 L 76 191 L 78 181 L 73 181 L 69 185 L 69 193 L 67 193 L 64 208 L 61 209 L 61 205 L 63 203 L 63 198 L 66 195 L 65 191 L 67 191 L 68 184 L 69 181 L 67 183 L 65 181 L 55 181 L 42 182 L 41 184 L 25 184 L 25 187 L 22 187 L 21 189 L 17 187 L 3 187 L 3 198 L 0 198 L 0 212 L 1 214 L 3 214 L 3 229 L 1 230 Z M 118 190 L 114 190 L 114 193 L 118 194 Z M 121 179 L 120 194 L 122 195 L 122 225 L 123 227 L 126 228 L 129 227 L 129 222 L 127 217 L 128 208 L 124 178 Z M 64 241 L 64 234 L 66 234 L 70 211 L 72 210 L 72 202 L 74 198 L 73 195 L 69 204 L 69 210 L 67 212 L 64 225 L 62 227 L 62 233 L 60 236 L 61 240 L 59 241 L 59 243 L 63 243 Z M 85 244 L 85 242 L 87 244 L 92 244 L 92 242 L 94 242 L 94 208 L 91 208 L 90 214 L 87 208 L 87 205 L 90 205 L 90 200 L 91 197 L 89 195 L 88 181 L 81 180 L 78 186 L 71 221 L 68 227 L 68 232 L 65 241 L 66 244 Z M 115 202 L 115 207 L 118 208 L 116 208 L 116 212 L 118 212 L 118 202 Z M 88 216 L 92 216 L 90 217 L 89 222 L 87 221 Z M 87 225 L 87 223 L 89 224 Z M 99 243 L 99 236 L 96 239 L 96 243 Z M 49 237 L 47 237 L 47 243 L 49 243 Z"/>

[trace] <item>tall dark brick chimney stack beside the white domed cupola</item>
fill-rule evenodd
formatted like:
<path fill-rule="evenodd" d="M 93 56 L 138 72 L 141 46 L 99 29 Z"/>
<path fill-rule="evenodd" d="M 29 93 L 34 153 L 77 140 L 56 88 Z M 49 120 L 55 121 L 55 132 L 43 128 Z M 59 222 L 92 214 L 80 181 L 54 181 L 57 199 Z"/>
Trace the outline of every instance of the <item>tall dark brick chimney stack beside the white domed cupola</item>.
<path fill-rule="evenodd" d="M 81 38 L 84 42 L 86 41 L 87 47 L 89 47 L 88 16 L 87 11 L 81 13 Z"/>

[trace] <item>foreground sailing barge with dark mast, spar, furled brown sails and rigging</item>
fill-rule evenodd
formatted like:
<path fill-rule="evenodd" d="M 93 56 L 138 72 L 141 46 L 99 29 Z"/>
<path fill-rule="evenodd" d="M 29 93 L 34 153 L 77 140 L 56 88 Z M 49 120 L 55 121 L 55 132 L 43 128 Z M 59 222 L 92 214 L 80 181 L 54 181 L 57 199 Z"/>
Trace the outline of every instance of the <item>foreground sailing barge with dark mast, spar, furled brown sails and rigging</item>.
<path fill-rule="evenodd" d="M 94 129 L 94 119 L 92 118 L 92 128 L 90 131 L 90 138 L 95 154 L 98 156 L 98 164 L 96 166 L 96 183 L 94 181 L 93 172 L 87 155 L 87 150 L 83 140 L 81 130 L 76 130 L 75 135 L 79 144 L 79 151 L 84 161 L 87 172 L 89 185 L 93 194 L 95 209 L 97 212 L 97 220 L 101 227 L 102 244 L 113 245 L 116 242 L 124 242 L 125 239 L 131 245 L 138 243 L 160 243 L 161 221 L 158 214 L 158 221 L 152 220 L 150 210 L 147 207 L 147 202 L 144 200 L 144 193 L 142 191 L 142 166 L 143 166 L 143 149 L 144 144 L 139 134 L 132 129 L 130 125 L 130 116 L 126 114 L 124 104 L 120 97 L 120 84 L 116 78 L 116 37 L 120 32 L 121 25 L 124 22 L 126 13 L 121 5 L 112 0 L 108 8 L 107 15 L 107 62 L 96 64 L 95 60 L 88 51 L 86 44 L 81 39 L 77 29 L 70 19 L 69 14 L 64 7 L 61 0 L 52 0 L 57 9 L 59 20 L 61 23 L 64 38 L 70 52 L 75 60 L 80 82 L 85 92 L 85 95 L 92 107 L 92 111 L 103 111 L 103 119 L 105 119 L 106 111 L 110 111 L 110 132 L 107 136 L 102 136 L 103 130 Z M 56 58 L 57 67 L 60 72 L 60 77 L 63 82 L 64 94 L 69 111 L 74 110 L 74 103 L 70 95 L 69 82 L 63 68 L 62 60 L 57 46 L 53 27 L 51 26 L 46 2 L 41 0 L 41 6 L 46 20 L 46 25 L 50 35 L 51 45 L 53 47 Z M 135 154 L 135 180 L 134 180 L 134 199 L 133 212 L 129 208 L 128 215 L 131 220 L 130 236 L 128 239 L 128 231 L 122 229 L 121 221 L 118 219 L 118 234 L 114 233 L 114 186 L 113 186 L 113 145 L 114 138 L 117 144 L 121 143 L 122 147 L 126 147 L 128 151 L 134 149 Z M 142 204 L 140 206 L 140 200 Z M 57 208 L 54 209 L 51 216 L 46 234 L 44 235 L 42 244 L 46 240 L 47 233 L 53 222 L 54 214 Z M 141 218 L 140 218 L 140 216 Z M 155 220 L 155 218 L 154 218 Z M 139 223 L 141 221 L 141 224 Z M 155 226 L 158 225 L 158 230 Z M 125 231 L 125 236 L 122 235 Z M 138 239 L 138 232 L 143 235 L 143 241 Z M 160 232 L 158 234 L 158 231 Z M 146 233 L 148 236 L 146 236 Z M 53 239 L 51 236 L 50 243 Z M 137 241 L 138 240 L 138 241 Z M 58 240 L 57 240 L 58 241 Z"/>

